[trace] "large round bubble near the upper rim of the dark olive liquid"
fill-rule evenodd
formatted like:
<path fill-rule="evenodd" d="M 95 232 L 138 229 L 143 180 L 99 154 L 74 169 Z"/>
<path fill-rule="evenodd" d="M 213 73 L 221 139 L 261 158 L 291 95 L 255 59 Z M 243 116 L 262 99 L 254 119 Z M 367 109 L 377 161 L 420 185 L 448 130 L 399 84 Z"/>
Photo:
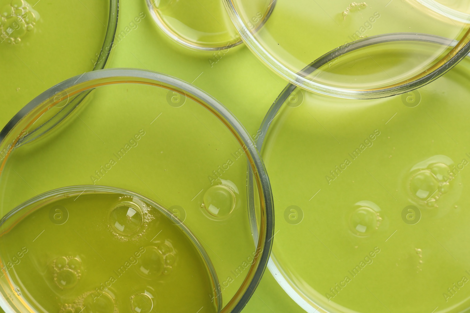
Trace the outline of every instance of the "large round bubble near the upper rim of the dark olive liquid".
<path fill-rule="evenodd" d="M 111 229 L 119 235 L 129 236 L 137 232 L 143 223 L 141 208 L 133 202 L 123 202 L 110 212 Z"/>

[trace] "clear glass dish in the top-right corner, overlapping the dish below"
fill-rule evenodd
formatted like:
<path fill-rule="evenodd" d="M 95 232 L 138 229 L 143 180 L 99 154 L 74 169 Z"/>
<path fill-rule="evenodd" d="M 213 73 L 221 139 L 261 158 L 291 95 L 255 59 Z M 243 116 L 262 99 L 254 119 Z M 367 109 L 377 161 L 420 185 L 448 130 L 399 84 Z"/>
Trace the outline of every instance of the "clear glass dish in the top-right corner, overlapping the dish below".
<path fill-rule="evenodd" d="M 413 90 L 444 74 L 470 51 L 469 1 L 387 2 L 277 1 L 269 21 L 252 32 L 246 13 L 252 1 L 224 0 L 243 41 L 278 75 L 307 91 L 350 99 Z M 450 6 L 446 10 L 445 4 Z M 303 71 L 337 47 L 348 52 L 357 41 L 389 33 L 426 33 L 458 44 L 382 43 L 340 53 L 314 73 Z"/>

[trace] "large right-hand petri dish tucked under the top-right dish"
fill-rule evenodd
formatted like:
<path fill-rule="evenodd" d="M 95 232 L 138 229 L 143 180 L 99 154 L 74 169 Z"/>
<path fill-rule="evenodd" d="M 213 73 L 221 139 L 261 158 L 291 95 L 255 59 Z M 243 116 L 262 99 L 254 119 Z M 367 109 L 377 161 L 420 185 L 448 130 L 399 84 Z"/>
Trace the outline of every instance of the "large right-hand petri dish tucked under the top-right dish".
<path fill-rule="evenodd" d="M 290 84 L 274 102 L 257 144 L 277 218 L 268 268 L 306 312 L 468 310 L 469 74 L 467 57 L 402 95 Z"/>

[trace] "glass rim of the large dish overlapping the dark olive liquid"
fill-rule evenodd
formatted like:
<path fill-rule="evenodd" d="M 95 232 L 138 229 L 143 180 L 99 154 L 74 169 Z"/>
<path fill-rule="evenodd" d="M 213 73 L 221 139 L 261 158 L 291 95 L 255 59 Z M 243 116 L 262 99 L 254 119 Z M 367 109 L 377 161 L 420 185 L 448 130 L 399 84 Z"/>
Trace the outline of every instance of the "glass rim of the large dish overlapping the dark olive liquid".
<path fill-rule="evenodd" d="M 68 80 L 63 81 L 60 84 L 57 84 L 51 87 L 49 90 L 41 93 L 35 99 L 33 99 L 30 103 L 28 103 L 25 107 L 23 107 L 15 117 L 8 122 L 8 124 L 3 128 L 0 132 L 0 147 L 4 145 L 4 139 L 9 135 L 9 133 L 14 130 L 14 128 L 22 122 L 28 114 L 33 111 L 34 109 L 40 107 L 45 101 L 50 99 L 51 94 L 55 94 L 55 92 L 62 92 L 63 90 L 67 90 L 73 88 L 77 85 L 85 85 L 86 83 L 100 80 L 100 79 L 116 79 L 119 78 L 124 83 L 126 78 L 135 78 L 139 79 L 146 79 L 150 81 L 157 81 L 159 83 L 172 85 L 175 87 L 180 88 L 181 90 L 187 91 L 188 93 L 196 96 L 196 98 L 200 99 L 201 101 L 207 103 L 220 117 L 222 117 L 225 121 L 227 121 L 230 126 L 236 131 L 238 136 L 245 145 L 247 151 L 252 159 L 252 166 L 256 168 L 255 176 L 258 176 L 258 181 L 261 183 L 261 191 L 263 196 L 264 206 L 266 209 L 266 216 L 261 216 L 261 221 L 263 222 L 264 219 L 264 229 L 266 231 L 266 236 L 260 237 L 258 241 L 258 249 L 262 249 L 260 252 L 261 257 L 259 258 L 259 262 L 255 263 L 251 267 L 252 274 L 245 278 L 245 281 L 251 280 L 248 285 L 242 285 L 237 294 L 240 296 L 232 299 L 229 304 L 226 305 L 222 309 L 221 312 L 240 312 L 243 307 L 246 305 L 248 300 L 251 298 L 254 289 L 258 285 L 261 277 L 266 269 L 267 262 L 269 259 L 269 254 L 271 252 L 272 241 L 267 240 L 267 238 L 271 238 L 274 234 L 274 208 L 273 208 L 273 198 L 271 193 L 271 187 L 269 183 L 269 178 L 266 174 L 266 169 L 264 168 L 263 162 L 261 157 L 254 145 L 250 135 L 244 129 L 243 125 L 233 116 L 226 107 L 224 107 L 221 103 L 219 103 L 216 99 L 212 98 L 210 95 L 206 94 L 202 90 L 198 89 L 196 86 L 184 82 L 178 78 L 168 76 L 165 74 L 152 72 L 149 70 L 142 70 L 142 69 L 101 69 L 92 72 L 85 73 L 81 76 L 75 76 Z M 1 172 L 0 172 L 1 175 Z M 262 214 L 263 215 L 263 214 Z M 250 274 L 249 274 L 250 275 Z M 234 301 L 238 300 L 238 301 Z M 236 302 L 236 303 L 235 303 Z M 0 301 L 1 305 L 1 301 Z"/>

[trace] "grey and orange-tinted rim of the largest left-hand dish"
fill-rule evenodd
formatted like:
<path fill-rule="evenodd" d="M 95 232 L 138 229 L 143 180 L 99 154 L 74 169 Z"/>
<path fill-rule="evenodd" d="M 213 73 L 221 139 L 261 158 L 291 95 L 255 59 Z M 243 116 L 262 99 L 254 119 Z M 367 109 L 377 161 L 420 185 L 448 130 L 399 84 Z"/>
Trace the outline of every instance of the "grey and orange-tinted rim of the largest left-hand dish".
<path fill-rule="evenodd" d="M 61 97 L 71 97 L 79 95 L 80 93 L 93 90 L 94 88 L 110 85 L 110 84 L 147 84 L 156 87 L 162 87 L 174 92 L 185 95 L 189 99 L 196 101 L 198 104 L 205 107 L 213 115 L 215 115 L 227 128 L 232 132 L 234 137 L 238 140 L 243 147 L 248 157 L 249 173 L 253 174 L 256 178 L 256 187 L 260 198 L 260 229 L 258 233 L 254 233 L 254 238 L 257 241 L 256 248 L 258 258 L 249 268 L 248 274 L 245 277 L 241 287 L 235 293 L 234 297 L 228 301 L 227 305 L 222 308 L 221 313 L 239 313 L 243 307 L 248 303 L 248 300 L 254 293 L 258 286 L 259 281 L 266 269 L 266 265 L 271 252 L 272 240 L 270 238 L 274 235 L 274 204 L 273 196 L 271 193 L 271 185 L 266 173 L 263 161 L 253 143 L 251 136 L 244 129 L 243 125 L 235 118 L 234 115 L 228 111 L 219 101 L 212 98 L 210 95 L 197 88 L 196 86 L 184 82 L 178 78 L 143 69 L 101 69 L 92 72 L 87 72 L 81 76 L 75 76 L 68 80 L 63 81 L 41 93 L 39 96 L 31 100 L 25 107 L 23 107 L 0 131 L 0 146 L 8 144 L 6 140 L 9 135 L 15 137 L 13 139 L 11 149 L 8 149 L 7 155 L 0 164 L 0 178 L 3 168 L 10 156 L 14 151 L 15 145 L 18 142 L 16 131 L 27 129 L 32 123 L 37 121 L 39 117 L 46 112 L 55 103 L 60 102 L 62 99 L 53 98 L 54 95 L 59 94 Z M 73 101 L 71 101 L 72 103 Z M 71 104 L 70 103 L 70 104 Z M 69 104 L 69 105 L 70 105 Z M 71 111 L 72 112 L 72 111 Z M 68 114 L 70 114 L 69 112 Z M 251 185 L 253 187 L 253 185 Z M 1 300 L 1 299 L 0 299 Z"/>

